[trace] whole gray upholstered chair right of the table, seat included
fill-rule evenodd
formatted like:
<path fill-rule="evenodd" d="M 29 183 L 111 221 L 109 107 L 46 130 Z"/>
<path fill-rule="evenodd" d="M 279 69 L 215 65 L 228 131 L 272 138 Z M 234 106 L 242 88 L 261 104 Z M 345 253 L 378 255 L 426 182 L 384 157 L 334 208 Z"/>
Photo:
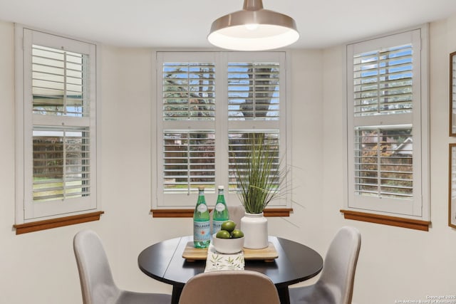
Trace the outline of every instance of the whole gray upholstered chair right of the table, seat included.
<path fill-rule="evenodd" d="M 291 304 L 351 304 L 361 234 L 342 227 L 328 248 L 321 276 L 314 285 L 289 288 Z"/>

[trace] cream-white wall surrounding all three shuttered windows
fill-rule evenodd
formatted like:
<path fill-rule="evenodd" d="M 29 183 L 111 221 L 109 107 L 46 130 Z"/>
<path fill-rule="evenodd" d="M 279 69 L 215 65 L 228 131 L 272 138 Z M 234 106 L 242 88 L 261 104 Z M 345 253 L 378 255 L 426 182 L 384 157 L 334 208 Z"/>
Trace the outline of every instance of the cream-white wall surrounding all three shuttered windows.
<path fill-rule="evenodd" d="M 150 214 L 148 49 L 103 46 L 100 221 L 16 236 L 14 224 L 14 26 L 0 21 L 0 303 L 76 304 L 81 290 L 72 239 L 81 229 L 100 234 L 121 288 L 170 293 L 148 278 L 138 253 L 157 241 L 191 234 L 191 219 Z M 456 294 L 455 229 L 447 226 L 448 53 L 456 51 L 456 17 L 432 23 L 431 204 L 429 232 L 346 221 L 343 207 L 343 46 L 291 51 L 294 214 L 269 220 L 271 234 L 324 254 L 343 225 L 363 234 L 353 301 L 389 304 Z"/>

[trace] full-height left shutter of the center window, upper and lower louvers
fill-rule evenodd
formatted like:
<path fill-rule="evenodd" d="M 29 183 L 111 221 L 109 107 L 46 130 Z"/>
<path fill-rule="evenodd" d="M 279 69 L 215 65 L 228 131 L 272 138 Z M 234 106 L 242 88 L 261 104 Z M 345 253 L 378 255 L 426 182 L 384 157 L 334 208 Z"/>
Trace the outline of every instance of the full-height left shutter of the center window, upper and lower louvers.
<path fill-rule="evenodd" d="M 215 189 L 215 62 L 212 56 L 162 61 L 157 74 L 162 93 L 160 195 L 184 201 Z M 183 59 L 183 60 L 182 60 Z"/>

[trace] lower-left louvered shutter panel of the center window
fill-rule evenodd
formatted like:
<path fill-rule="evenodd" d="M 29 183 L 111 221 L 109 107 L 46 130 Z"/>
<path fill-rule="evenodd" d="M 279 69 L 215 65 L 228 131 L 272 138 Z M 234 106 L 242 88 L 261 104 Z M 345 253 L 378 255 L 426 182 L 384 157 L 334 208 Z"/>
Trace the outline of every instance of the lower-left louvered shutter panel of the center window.
<path fill-rule="evenodd" d="M 165 130 L 164 192 L 197 192 L 199 186 L 214 189 L 215 133 L 201 130 Z"/>

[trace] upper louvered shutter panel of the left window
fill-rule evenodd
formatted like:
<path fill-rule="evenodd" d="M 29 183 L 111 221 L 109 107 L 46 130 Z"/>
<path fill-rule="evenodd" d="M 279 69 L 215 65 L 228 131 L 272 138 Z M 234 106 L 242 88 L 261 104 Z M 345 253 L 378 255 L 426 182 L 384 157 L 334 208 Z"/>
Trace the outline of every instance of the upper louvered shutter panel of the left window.
<path fill-rule="evenodd" d="M 32 46 L 33 114 L 88 115 L 83 85 L 85 55 L 44 46 Z M 84 87 L 85 88 L 85 87 Z M 86 100 L 85 100 L 86 99 Z"/>

